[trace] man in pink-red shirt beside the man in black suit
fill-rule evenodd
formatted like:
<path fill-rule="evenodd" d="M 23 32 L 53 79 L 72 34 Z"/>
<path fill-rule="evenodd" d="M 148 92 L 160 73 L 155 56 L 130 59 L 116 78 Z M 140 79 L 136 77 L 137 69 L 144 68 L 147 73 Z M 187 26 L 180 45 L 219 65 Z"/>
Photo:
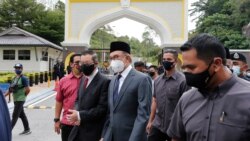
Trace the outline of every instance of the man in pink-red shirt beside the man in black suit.
<path fill-rule="evenodd" d="M 62 141 L 68 141 L 68 136 L 72 128 L 77 124 L 68 122 L 66 115 L 69 113 L 69 109 L 74 108 L 77 91 L 80 86 L 82 77 L 79 66 L 80 56 L 80 54 L 73 54 L 70 57 L 72 72 L 59 81 L 59 87 L 57 89 L 54 129 L 57 134 L 61 132 Z M 62 111 L 62 119 L 60 120 Z"/>

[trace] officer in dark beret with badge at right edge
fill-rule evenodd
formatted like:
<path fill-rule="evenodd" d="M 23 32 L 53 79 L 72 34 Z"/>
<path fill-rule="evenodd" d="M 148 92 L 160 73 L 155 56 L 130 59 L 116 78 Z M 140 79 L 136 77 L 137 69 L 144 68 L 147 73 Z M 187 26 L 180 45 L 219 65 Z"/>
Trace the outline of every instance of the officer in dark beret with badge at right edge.
<path fill-rule="evenodd" d="M 233 61 L 233 72 L 237 76 L 247 81 L 250 81 L 248 77 L 246 77 L 246 70 L 248 69 L 247 59 L 246 57 L 238 52 L 231 54 L 231 59 Z"/>

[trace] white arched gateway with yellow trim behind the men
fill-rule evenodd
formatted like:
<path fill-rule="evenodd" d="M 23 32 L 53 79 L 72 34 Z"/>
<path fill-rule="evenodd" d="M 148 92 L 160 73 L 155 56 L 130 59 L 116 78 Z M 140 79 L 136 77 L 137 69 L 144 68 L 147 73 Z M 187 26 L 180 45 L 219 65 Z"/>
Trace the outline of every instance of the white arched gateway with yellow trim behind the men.
<path fill-rule="evenodd" d="M 187 8 L 186 0 L 66 0 L 62 46 L 90 47 L 96 29 L 128 18 L 156 30 L 160 47 L 179 47 L 188 39 Z"/>

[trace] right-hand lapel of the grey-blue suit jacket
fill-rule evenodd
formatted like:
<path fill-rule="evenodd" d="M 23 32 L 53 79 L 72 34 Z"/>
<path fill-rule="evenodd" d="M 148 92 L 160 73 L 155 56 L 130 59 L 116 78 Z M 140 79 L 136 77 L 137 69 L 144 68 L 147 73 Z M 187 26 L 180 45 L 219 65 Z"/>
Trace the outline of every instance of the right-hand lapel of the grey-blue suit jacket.
<path fill-rule="evenodd" d="M 125 94 L 126 92 L 126 89 L 129 87 L 129 85 L 131 84 L 132 80 L 133 80 L 133 76 L 134 76 L 134 70 L 131 69 L 128 76 L 125 78 L 123 84 L 122 84 L 122 87 L 121 87 L 121 90 L 119 92 L 119 96 L 118 96 L 118 99 L 116 100 L 116 103 L 114 105 L 114 110 L 116 109 L 116 107 L 119 105 L 123 95 Z"/>

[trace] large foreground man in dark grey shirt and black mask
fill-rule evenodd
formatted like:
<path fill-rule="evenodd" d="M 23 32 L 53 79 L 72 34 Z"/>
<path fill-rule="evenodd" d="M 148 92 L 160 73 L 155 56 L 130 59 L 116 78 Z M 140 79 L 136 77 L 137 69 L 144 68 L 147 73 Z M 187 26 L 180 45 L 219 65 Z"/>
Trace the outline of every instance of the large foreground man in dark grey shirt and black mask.
<path fill-rule="evenodd" d="M 232 75 L 219 40 L 200 34 L 182 47 L 192 89 L 182 95 L 167 134 L 172 141 L 249 141 L 250 83 Z"/>

